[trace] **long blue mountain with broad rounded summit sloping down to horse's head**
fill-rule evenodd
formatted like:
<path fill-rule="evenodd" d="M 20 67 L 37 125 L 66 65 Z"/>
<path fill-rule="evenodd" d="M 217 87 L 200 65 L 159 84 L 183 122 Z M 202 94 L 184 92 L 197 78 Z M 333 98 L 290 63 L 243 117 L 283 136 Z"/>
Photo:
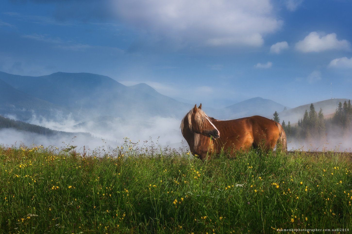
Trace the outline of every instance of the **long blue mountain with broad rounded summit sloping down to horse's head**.
<path fill-rule="evenodd" d="M 146 84 L 128 87 L 98 74 L 56 72 L 30 77 L 0 72 L 0 79 L 27 95 L 64 106 L 76 116 L 181 117 L 191 109 Z"/>

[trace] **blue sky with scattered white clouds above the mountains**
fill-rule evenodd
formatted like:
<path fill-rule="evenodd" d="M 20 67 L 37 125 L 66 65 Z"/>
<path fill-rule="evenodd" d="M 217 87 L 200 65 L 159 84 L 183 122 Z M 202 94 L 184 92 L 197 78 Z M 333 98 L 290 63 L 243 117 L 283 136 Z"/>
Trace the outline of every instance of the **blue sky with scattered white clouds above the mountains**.
<path fill-rule="evenodd" d="M 208 106 L 352 99 L 352 1 L 13 0 L 0 71 L 107 75 Z"/>

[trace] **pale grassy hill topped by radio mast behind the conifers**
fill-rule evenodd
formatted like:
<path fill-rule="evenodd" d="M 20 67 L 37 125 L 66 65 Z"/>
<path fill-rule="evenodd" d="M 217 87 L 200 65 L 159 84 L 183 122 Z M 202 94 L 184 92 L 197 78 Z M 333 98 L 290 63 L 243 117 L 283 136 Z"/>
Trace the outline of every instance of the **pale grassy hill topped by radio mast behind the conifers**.
<path fill-rule="evenodd" d="M 316 112 L 319 112 L 320 108 L 323 110 L 323 114 L 325 118 L 330 118 L 335 113 L 335 110 L 339 104 L 339 102 L 344 103 L 348 102 L 348 99 L 328 99 L 320 102 L 314 102 L 314 108 Z M 287 123 L 290 121 L 291 124 L 297 123 L 298 119 L 303 118 L 304 112 L 309 111 L 310 104 L 297 106 L 296 108 L 292 108 L 289 110 L 279 112 L 280 122 L 283 120 Z M 268 115 L 267 118 L 272 118 L 272 115 Z"/>

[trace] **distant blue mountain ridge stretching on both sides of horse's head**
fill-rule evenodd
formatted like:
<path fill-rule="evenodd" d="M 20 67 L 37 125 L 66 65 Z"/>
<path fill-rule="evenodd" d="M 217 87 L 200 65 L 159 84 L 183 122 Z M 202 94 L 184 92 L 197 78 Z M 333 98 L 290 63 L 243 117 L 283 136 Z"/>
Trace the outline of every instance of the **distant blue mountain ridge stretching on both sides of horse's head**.
<path fill-rule="evenodd" d="M 194 106 L 162 95 L 145 83 L 125 86 L 110 77 L 92 73 L 56 72 L 31 77 L 0 72 L 0 79 L 3 86 L 8 87 L 3 89 L 11 90 L 7 91 L 6 100 L 4 97 L 0 99 L 0 114 L 15 115 L 21 120 L 27 120 L 33 113 L 52 118 L 52 115 L 48 115 L 50 110 L 57 110 L 63 115 L 72 113 L 76 120 L 82 122 L 100 116 L 181 119 Z M 14 111 L 14 107 L 17 111 Z M 269 116 L 284 108 L 290 109 L 270 99 L 256 97 L 225 108 L 204 106 L 203 109 L 209 116 L 218 119 L 235 119 L 253 115 Z M 19 110 L 26 110 L 26 114 Z"/>

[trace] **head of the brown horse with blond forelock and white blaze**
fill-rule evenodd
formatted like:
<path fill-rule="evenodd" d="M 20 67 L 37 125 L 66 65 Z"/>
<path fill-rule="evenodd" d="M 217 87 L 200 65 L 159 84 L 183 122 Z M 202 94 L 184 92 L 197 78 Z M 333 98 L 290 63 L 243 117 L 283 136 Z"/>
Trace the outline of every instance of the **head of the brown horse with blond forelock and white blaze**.
<path fill-rule="evenodd" d="M 201 134 L 207 137 L 219 138 L 220 132 L 215 125 L 210 121 L 209 117 L 202 111 L 202 104 L 199 108 L 197 105 L 192 108 L 187 115 L 182 119 L 181 129 L 188 127 L 192 132 Z M 188 125 L 188 126 L 186 126 Z"/>

